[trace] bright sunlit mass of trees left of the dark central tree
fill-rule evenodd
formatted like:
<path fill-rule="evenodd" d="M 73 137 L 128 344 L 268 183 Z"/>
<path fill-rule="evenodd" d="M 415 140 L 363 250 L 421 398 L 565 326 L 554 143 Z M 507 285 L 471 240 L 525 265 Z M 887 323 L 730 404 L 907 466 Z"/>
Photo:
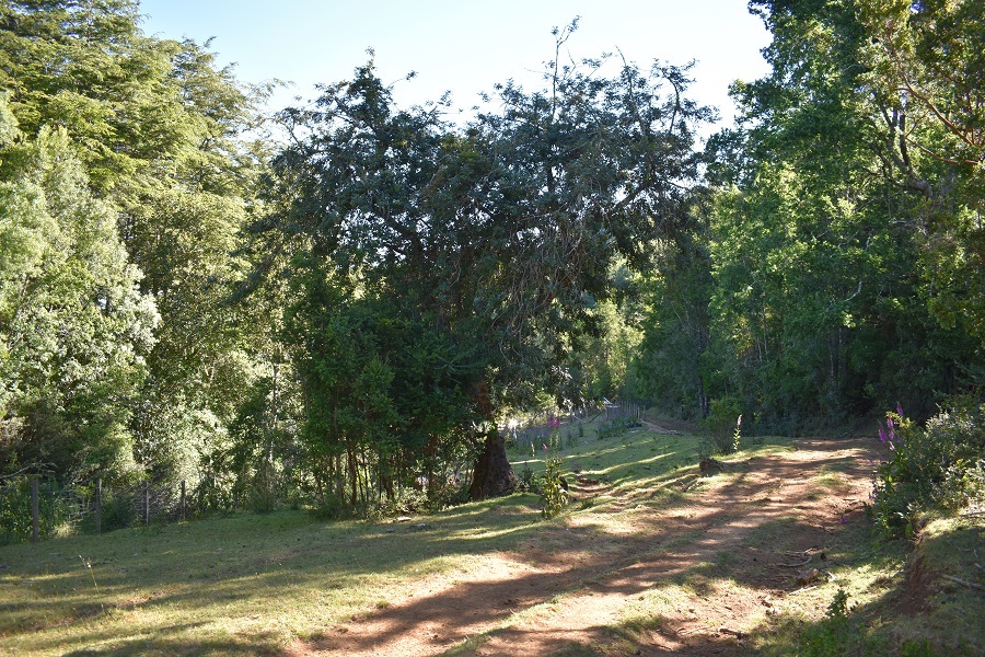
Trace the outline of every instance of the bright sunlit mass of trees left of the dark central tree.
<path fill-rule="evenodd" d="M 9 99 L 0 103 L 0 178 L 13 185 L 0 203 L 4 217 L 18 217 L 0 228 L 0 251 L 9 244 L 18 254 L 4 262 L 0 288 L 25 285 L 36 300 L 12 319 L 0 308 L 14 349 L 0 372 L 0 422 L 10 413 L 28 418 L 30 440 L 25 434 L 13 451 L 59 476 L 143 470 L 194 484 L 199 459 L 224 447 L 227 424 L 265 369 L 278 319 L 266 303 L 224 303 L 246 273 L 232 253 L 247 206 L 257 207 L 262 149 L 239 139 L 252 100 L 231 70 L 192 41 L 143 35 L 140 20 L 131 0 L 0 5 L 0 88 Z M 50 174 L 27 184 L 38 166 Z M 50 235 L 47 245 L 42 235 Z M 86 269 L 89 283 L 80 276 Z M 96 301 L 107 315 L 99 321 Z M 77 320 L 69 325 L 44 308 Z M 74 344 L 43 337 L 58 323 Z M 107 353 L 83 356 L 86 342 Z M 67 358 L 49 358 L 59 348 Z M 59 360 L 67 367 L 55 372 Z M 45 383 L 56 374 L 57 385 Z M 16 397 L 12 412 L 8 394 Z"/>

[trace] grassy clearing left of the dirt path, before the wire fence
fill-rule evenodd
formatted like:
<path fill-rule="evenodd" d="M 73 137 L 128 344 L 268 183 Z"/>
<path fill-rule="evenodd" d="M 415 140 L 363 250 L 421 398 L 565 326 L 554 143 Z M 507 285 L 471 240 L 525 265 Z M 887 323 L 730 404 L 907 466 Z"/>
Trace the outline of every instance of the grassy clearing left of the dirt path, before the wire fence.
<path fill-rule="evenodd" d="M 8 546 L 0 649 L 277 652 L 529 537 L 535 503 L 465 505 L 418 519 L 425 527 L 281 511 Z"/>

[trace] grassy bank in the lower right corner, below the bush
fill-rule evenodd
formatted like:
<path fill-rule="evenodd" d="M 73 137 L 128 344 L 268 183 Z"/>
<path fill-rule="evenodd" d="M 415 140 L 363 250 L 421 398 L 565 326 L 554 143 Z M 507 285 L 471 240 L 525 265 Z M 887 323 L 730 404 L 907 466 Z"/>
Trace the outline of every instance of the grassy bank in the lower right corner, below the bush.
<path fill-rule="evenodd" d="M 941 576 L 985 586 L 975 556 L 983 538 L 981 519 L 969 517 L 931 520 L 912 546 L 873 538 L 866 525 L 851 527 L 827 550 L 837 581 L 783 610 L 750 647 L 776 656 L 981 655 L 983 593 Z M 848 595 L 847 618 L 823 618 L 838 590 Z"/>

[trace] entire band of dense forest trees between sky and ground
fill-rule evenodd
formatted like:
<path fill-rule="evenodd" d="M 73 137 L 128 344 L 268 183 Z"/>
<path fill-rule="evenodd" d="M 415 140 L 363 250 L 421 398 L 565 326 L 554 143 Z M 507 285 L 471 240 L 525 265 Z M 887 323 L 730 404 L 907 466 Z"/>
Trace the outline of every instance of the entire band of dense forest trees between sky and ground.
<path fill-rule="evenodd" d="M 462 125 L 371 59 L 267 115 L 136 0 L 0 3 L 0 486 L 348 514 L 508 491 L 507 419 L 605 399 L 790 435 L 974 411 L 985 5 L 750 10 L 772 72 L 702 143 L 687 67 L 566 66 L 576 24 Z"/>

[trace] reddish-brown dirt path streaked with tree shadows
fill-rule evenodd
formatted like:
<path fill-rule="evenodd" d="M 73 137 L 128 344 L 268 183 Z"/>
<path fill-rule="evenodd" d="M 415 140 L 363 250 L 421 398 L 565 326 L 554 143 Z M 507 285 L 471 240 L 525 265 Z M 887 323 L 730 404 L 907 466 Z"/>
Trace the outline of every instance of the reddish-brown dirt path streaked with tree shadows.
<path fill-rule="evenodd" d="M 725 476 L 688 477 L 673 499 L 656 487 L 586 484 L 573 491 L 579 499 L 606 499 L 592 514 L 573 514 L 515 552 L 483 555 L 467 573 L 418 581 L 406 599 L 289 653 L 437 655 L 475 635 L 484 641 L 471 654 L 488 656 L 576 644 L 609 653 L 630 639 L 638 655 L 735 653 L 775 601 L 796 595 L 801 568 L 779 564 L 802 558 L 788 553 L 823 570 L 824 550 L 864 521 L 874 457 L 869 440 L 803 440 Z M 654 595 L 659 622 L 625 623 Z"/>

